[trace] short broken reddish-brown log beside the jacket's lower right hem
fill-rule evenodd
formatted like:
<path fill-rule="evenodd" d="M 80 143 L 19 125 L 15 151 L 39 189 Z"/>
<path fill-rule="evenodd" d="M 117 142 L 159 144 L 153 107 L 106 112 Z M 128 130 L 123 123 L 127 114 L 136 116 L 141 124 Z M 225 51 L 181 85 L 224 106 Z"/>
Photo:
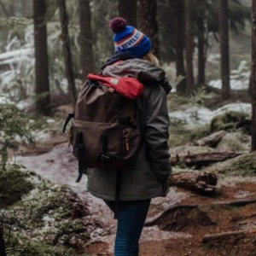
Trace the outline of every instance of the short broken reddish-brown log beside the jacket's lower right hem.
<path fill-rule="evenodd" d="M 216 190 L 218 177 L 215 173 L 208 172 L 178 172 L 172 174 L 169 178 L 170 186 L 177 186 L 183 189 L 189 189 L 201 194 L 209 194 Z"/>

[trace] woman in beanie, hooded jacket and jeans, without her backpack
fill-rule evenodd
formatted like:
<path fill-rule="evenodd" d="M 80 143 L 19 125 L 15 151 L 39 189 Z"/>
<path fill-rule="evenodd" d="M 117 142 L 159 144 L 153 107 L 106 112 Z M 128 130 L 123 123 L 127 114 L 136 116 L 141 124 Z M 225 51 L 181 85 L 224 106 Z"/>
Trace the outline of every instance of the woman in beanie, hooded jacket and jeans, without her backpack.
<path fill-rule="evenodd" d="M 166 196 L 171 175 L 168 148 L 169 116 L 166 94 L 172 89 L 152 54 L 149 38 L 120 17 L 110 21 L 114 32 L 115 55 L 102 67 L 102 74 L 133 77 L 144 85 L 143 96 L 137 98 L 137 124 L 143 134 L 143 145 L 137 163 L 122 172 L 119 191 L 115 256 L 138 255 L 138 241 L 147 217 L 150 200 Z M 87 171 L 88 190 L 102 198 L 114 211 L 117 170 Z"/>

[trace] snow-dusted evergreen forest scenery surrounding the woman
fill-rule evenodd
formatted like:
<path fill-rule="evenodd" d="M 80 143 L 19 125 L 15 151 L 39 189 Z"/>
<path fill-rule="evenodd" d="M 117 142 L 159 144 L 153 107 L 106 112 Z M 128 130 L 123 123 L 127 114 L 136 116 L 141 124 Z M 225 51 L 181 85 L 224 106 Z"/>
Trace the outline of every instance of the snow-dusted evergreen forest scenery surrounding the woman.
<path fill-rule="evenodd" d="M 62 127 L 114 54 L 114 17 L 172 85 L 170 188 L 139 255 L 255 255 L 256 0 L 0 0 L 0 256 L 113 255 L 113 212 L 76 183 Z"/>

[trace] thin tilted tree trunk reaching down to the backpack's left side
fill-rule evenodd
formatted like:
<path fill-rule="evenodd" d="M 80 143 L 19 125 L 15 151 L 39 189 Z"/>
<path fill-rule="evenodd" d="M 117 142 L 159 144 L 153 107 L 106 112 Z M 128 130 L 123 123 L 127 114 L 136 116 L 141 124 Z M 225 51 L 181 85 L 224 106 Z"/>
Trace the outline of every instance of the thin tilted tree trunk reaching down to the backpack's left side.
<path fill-rule="evenodd" d="M 63 44 L 63 55 L 65 61 L 65 69 L 68 83 L 68 92 L 73 107 L 77 100 L 77 90 L 73 75 L 73 61 L 71 55 L 71 47 L 68 34 L 68 18 L 66 9 L 66 0 L 59 0 L 60 18 L 61 18 L 61 39 Z"/>

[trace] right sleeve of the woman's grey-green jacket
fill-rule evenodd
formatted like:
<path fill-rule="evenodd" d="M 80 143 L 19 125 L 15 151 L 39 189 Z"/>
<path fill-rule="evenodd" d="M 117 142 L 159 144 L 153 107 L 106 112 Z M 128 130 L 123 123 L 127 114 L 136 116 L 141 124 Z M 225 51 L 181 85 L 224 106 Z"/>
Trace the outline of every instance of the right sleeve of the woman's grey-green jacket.
<path fill-rule="evenodd" d="M 172 174 L 169 154 L 169 125 L 170 119 L 166 104 L 166 92 L 159 85 L 151 86 L 146 96 L 145 106 L 145 133 L 148 160 L 152 172 L 165 183 Z"/>

